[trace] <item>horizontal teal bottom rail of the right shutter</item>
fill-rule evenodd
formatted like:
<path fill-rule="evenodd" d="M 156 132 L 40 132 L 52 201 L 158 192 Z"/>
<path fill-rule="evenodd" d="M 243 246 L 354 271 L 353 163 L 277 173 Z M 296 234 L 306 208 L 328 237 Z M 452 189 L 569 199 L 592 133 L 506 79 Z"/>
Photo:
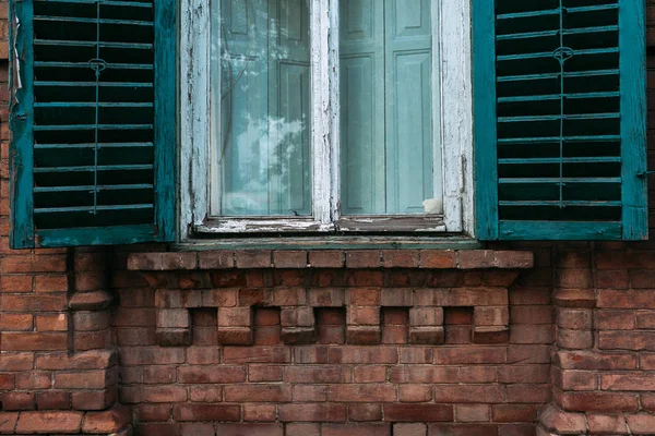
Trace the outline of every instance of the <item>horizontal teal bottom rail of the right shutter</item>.
<path fill-rule="evenodd" d="M 499 239 L 505 241 L 620 240 L 621 222 L 500 221 Z"/>

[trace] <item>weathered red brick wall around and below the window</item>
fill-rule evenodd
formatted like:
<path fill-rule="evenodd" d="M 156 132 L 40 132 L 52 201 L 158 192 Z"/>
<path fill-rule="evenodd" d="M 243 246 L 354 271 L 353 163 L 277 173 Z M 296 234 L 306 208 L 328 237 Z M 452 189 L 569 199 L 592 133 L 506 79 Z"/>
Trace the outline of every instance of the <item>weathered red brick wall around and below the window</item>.
<path fill-rule="evenodd" d="M 655 433 L 653 242 L 10 251 L 5 59 L 0 434 Z"/>

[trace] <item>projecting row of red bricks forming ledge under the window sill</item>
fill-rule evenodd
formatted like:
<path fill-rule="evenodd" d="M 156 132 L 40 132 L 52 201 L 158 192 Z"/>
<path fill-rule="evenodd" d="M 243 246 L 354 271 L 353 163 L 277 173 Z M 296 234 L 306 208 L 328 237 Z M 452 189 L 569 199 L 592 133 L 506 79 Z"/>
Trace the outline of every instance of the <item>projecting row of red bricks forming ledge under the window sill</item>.
<path fill-rule="evenodd" d="M 128 256 L 128 269 L 140 271 L 344 267 L 526 269 L 533 266 L 533 252 L 495 250 L 221 250 Z"/>

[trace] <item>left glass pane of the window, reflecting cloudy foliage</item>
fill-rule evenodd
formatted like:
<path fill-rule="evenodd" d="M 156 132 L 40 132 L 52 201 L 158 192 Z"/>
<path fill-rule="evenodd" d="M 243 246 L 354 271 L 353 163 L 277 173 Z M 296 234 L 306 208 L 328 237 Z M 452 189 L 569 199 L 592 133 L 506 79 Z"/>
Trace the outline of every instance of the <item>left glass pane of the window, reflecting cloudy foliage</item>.
<path fill-rule="evenodd" d="M 219 215 L 310 215 L 309 0 L 214 4 Z"/>

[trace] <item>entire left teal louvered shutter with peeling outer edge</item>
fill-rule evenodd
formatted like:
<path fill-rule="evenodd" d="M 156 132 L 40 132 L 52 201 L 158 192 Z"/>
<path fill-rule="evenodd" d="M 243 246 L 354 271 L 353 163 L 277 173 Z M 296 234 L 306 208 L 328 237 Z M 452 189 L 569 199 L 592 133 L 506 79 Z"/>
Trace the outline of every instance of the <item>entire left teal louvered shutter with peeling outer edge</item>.
<path fill-rule="evenodd" d="M 175 0 L 10 8 L 11 246 L 171 241 Z"/>

